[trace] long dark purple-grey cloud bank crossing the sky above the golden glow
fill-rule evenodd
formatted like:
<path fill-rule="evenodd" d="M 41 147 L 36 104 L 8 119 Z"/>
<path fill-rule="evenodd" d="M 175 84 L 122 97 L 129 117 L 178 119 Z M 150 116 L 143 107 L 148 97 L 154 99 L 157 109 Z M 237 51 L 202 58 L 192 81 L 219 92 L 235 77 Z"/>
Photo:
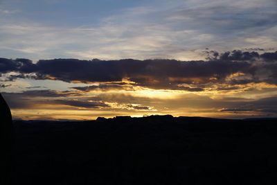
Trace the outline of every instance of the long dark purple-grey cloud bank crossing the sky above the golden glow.
<path fill-rule="evenodd" d="M 178 60 L 77 60 L 53 59 L 39 60 L 33 63 L 28 59 L 0 58 L 0 73 L 11 71 L 19 75 L 9 76 L 8 80 L 16 78 L 33 78 L 37 80 L 62 80 L 65 82 L 120 82 L 128 78 L 136 85 L 152 89 L 183 89 L 187 91 L 202 91 L 201 87 L 184 87 L 180 84 L 203 85 L 208 82 L 224 82 L 232 73 L 245 73 L 249 78 L 233 80 L 231 83 L 246 84 L 262 81 L 277 84 L 277 51 L 262 53 L 232 51 L 218 53 L 206 51 L 206 61 Z M 109 87 L 122 88 L 123 85 L 112 84 Z M 101 87 L 87 87 L 107 89 Z M 78 89 L 76 87 L 75 89 Z"/>

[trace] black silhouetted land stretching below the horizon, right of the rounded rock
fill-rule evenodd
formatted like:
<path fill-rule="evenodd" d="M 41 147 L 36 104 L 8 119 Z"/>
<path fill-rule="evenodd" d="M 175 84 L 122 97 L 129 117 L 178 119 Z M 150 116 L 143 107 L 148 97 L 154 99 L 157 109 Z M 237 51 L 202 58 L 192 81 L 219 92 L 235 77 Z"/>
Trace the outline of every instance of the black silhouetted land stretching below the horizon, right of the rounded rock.
<path fill-rule="evenodd" d="M 15 121 L 12 184 L 276 184 L 277 122 Z"/>

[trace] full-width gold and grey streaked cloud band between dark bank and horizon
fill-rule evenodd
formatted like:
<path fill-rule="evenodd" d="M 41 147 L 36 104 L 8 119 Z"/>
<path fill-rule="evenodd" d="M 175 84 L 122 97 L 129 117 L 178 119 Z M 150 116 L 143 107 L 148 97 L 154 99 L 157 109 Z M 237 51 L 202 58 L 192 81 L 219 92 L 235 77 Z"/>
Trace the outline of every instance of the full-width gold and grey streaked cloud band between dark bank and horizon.
<path fill-rule="evenodd" d="M 259 87 L 260 84 L 257 85 Z M 21 93 L 2 93 L 12 111 L 17 115 L 33 115 L 33 118 L 45 114 L 68 115 L 70 118 L 85 112 L 85 118 L 114 115 L 173 114 L 175 116 L 212 116 L 227 118 L 245 118 L 251 116 L 276 116 L 276 87 L 239 91 L 237 94 L 220 94 L 221 91 L 239 88 L 219 87 L 206 94 L 202 91 L 175 93 L 150 89 L 134 91 L 53 91 L 33 90 Z M 217 94 L 219 94 L 217 96 Z M 256 95 L 258 94 L 258 98 Z M 212 96 L 211 96 L 212 95 Z M 268 98 L 259 98 L 259 97 Z M 69 113 L 69 111 L 71 113 Z M 90 112 L 89 112 L 90 111 Z M 99 112 L 101 111 L 101 112 Z M 80 113 L 78 113 L 80 112 Z M 37 114 L 42 115 L 37 115 Z M 82 118 L 82 116 L 78 116 Z M 83 117 L 84 118 L 84 117 Z M 94 117 L 93 117 L 94 118 Z"/>

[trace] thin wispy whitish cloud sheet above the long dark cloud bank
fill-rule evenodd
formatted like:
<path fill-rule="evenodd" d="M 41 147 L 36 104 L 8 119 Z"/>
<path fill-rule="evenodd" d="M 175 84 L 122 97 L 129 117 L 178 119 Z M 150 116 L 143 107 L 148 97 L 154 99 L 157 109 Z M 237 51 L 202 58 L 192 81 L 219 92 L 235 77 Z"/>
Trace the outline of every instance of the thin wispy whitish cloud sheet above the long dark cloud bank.
<path fill-rule="evenodd" d="M 41 58 L 203 59 L 217 51 L 276 46 L 276 2 L 159 1 L 75 26 L 2 21 L 1 55 Z M 18 17 L 17 17 L 18 18 Z M 9 19 L 15 19 L 10 17 Z M 17 53 L 17 54 L 16 54 Z"/>

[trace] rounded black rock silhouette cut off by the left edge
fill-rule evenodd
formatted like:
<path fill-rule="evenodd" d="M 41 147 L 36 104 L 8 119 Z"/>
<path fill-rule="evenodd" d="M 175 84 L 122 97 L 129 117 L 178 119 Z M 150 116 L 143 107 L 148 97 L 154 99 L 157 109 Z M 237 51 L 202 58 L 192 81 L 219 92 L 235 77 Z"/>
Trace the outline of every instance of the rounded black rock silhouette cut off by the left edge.
<path fill-rule="evenodd" d="M 13 127 L 10 108 L 0 94 L 0 184 L 10 184 Z"/>

